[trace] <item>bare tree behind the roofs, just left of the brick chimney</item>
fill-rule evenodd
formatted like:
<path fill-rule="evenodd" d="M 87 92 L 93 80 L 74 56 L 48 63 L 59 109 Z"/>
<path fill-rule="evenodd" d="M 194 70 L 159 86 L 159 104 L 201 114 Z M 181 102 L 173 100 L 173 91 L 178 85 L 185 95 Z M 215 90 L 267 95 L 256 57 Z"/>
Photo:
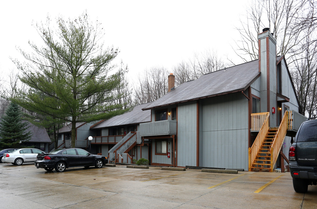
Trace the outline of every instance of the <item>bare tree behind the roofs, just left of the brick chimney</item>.
<path fill-rule="evenodd" d="M 167 93 L 168 71 L 164 67 L 153 67 L 139 75 L 134 85 L 134 103 L 144 104 L 155 101 Z"/>

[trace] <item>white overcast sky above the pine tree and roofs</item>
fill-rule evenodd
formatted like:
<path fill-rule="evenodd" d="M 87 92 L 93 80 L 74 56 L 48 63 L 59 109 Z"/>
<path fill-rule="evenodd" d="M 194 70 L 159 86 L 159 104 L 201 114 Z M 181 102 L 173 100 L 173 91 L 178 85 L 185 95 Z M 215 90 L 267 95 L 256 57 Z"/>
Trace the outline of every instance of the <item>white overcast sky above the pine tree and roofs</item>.
<path fill-rule="evenodd" d="M 129 77 L 163 66 L 169 71 L 194 52 L 217 51 L 240 64 L 231 46 L 248 0 L 227 1 L 2 1 L 0 7 L 0 78 L 16 69 L 9 57 L 21 61 L 16 47 L 28 51 L 28 41 L 42 44 L 33 22 L 49 15 L 78 17 L 86 9 L 91 21 L 105 28 L 105 45 L 119 48 L 117 61 L 129 68 Z M 171 71 L 172 72 L 172 71 Z"/>

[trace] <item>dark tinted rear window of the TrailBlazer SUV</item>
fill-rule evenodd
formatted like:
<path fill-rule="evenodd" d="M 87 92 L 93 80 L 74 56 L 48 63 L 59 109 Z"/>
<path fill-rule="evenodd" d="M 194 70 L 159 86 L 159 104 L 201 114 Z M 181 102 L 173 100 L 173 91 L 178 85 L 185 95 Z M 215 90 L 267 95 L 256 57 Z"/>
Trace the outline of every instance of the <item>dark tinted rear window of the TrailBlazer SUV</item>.
<path fill-rule="evenodd" d="M 307 122 L 301 125 L 296 142 L 317 141 L 317 122 Z"/>

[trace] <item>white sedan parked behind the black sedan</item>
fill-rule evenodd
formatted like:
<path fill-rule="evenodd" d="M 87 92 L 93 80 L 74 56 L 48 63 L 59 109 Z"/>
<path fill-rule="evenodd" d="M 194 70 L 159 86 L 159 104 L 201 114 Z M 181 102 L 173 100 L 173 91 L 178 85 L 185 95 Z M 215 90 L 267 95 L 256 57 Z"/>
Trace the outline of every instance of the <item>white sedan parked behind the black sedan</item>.
<path fill-rule="evenodd" d="M 22 165 L 23 163 L 33 163 L 36 161 L 37 154 L 43 153 L 45 152 L 34 148 L 18 149 L 11 153 L 4 153 L 2 162 L 16 165 Z"/>

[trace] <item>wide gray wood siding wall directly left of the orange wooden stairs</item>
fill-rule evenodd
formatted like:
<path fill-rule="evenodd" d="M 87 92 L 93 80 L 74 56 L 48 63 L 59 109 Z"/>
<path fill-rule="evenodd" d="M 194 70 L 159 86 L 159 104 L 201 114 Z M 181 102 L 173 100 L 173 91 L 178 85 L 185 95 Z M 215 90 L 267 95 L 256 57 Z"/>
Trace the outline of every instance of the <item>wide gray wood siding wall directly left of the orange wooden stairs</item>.
<path fill-rule="evenodd" d="M 238 92 L 204 99 L 202 103 L 200 166 L 247 170 L 248 99 Z"/>

